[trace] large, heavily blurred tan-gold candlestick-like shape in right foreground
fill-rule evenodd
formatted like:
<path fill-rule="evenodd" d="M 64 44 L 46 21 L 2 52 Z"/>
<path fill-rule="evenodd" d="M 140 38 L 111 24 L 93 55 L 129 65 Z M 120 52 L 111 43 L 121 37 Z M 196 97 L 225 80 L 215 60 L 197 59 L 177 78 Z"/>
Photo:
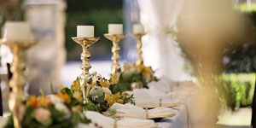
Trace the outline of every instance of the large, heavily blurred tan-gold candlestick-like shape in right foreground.
<path fill-rule="evenodd" d="M 231 0 L 186 1 L 177 23 L 177 40 L 201 90 L 191 100 L 193 127 L 215 127 L 223 86 L 218 83 L 225 48 L 241 39 L 244 17 Z"/>

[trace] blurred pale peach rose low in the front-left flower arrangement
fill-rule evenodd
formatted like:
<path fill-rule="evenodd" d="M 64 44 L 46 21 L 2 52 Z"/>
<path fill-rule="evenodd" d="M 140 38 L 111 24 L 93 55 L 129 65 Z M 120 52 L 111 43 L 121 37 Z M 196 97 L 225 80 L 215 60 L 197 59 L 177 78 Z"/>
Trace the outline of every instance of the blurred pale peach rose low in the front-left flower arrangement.
<path fill-rule="evenodd" d="M 41 124 L 47 125 L 50 123 L 50 113 L 46 108 L 37 108 L 35 110 L 35 117 Z"/>

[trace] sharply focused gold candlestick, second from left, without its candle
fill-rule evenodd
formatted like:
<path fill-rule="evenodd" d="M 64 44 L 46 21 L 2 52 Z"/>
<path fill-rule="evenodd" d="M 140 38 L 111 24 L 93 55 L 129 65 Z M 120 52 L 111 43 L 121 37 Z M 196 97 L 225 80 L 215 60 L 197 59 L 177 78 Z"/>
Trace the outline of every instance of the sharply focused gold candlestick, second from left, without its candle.
<path fill-rule="evenodd" d="M 89 73 L 89 70 L 91 68 L 90 66 L 90 52 L 88 51 L 88 48 L 91 44 L 96 43 L 100 38 L 72 38 L 74 42 L 77 44 L 80 44 L 83 48 L 83 52 L 81 54 L 81 60 L 82 64 L 80 68 L 83 70 L 83 73 L 81 73 L 79 77 L 79 83 L 81 84 L 81 90 L 83 91 L 83 97 L 84 101 L 86 101 L 86 98 L 89 96 L 89 90 L 90 90 L 90 84 L 91 84 L 91 76 Z M 85 90 L 86 89 L 86 90 Z"/>

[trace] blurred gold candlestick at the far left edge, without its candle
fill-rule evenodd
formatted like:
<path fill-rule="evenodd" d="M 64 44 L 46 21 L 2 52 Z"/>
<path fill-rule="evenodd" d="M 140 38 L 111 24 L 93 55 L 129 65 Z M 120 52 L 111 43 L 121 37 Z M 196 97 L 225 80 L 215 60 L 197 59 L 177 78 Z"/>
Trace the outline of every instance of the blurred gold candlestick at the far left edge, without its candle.
<path fill-rule="evenodd" d="M 14 55 L 14 61 L 10 68 L 10 71 L 13 73 L 13 77 L 9 81 L 9 86 L 12 88 L 12 91 L 9 94 L 9 109 L 14 116 L 15 128 L 21 128 L 21 121 L 26 111 L 26 107 L 22 103 L 25 100 L 24 86 L 26 85 L 26 79 L 24 77 L 24 53 L 26 49 L 31 48 L 32 45 L 35 44 L 35 41 L 12 42 L 8 40 L 1 40 L 0 42 L 1 44 L 7 45 Z"/>

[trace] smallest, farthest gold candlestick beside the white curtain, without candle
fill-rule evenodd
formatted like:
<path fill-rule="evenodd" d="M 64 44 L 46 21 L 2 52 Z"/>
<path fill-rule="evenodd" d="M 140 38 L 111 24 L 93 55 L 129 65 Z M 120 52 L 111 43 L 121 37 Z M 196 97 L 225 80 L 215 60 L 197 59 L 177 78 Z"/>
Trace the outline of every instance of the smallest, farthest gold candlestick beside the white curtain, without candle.
<path fill-rule="evenodd" d="M 142 38 L 145 35 L 145 33 L 137 33 L 137 34 L 132 34 L 135 38 L 137 38 L 137 61 L 136 64 L 137 66 L 143 64 L 143 43 L 142 43 Z"/>

